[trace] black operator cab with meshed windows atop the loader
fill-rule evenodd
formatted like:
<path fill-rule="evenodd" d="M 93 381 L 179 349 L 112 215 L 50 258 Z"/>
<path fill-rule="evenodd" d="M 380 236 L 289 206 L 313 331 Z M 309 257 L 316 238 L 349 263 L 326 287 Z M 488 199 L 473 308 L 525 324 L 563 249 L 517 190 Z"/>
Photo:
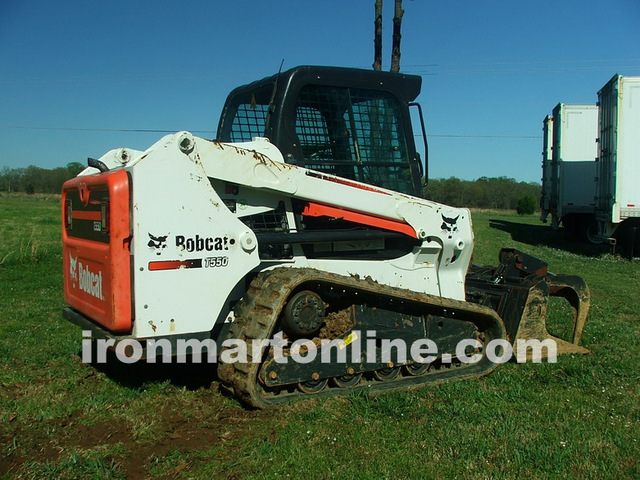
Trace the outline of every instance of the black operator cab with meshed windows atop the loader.
<path fill-rule="evenodd" d="M 296 67 L 233 90 L 217 140 L 267 137 L 287 163 L 421 197 L 409 115 L 421 82 L 399 73 Z"/>

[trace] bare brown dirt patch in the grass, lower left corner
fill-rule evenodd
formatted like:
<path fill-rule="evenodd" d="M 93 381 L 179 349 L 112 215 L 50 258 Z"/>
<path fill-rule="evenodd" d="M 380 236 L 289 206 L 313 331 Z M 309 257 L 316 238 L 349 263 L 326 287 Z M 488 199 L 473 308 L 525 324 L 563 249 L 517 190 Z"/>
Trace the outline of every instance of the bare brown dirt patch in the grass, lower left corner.
<path fill-rule="evenodd" d="M 136 431 L 139 424 L 133 423 L 134 418 L 140 421 L 140 415 L 129 418 L 126 412 L 114 412 L 113 419 L 95 423 L 90 423 L 88 416 L 41 422 L 10 418 L 0 433 L 0 476 L 24 473 L 34 463 L 55 464 L 71 452 L 109 451 L 127 479 L 144 479 L 151 476 L 154 461 L 171 452 L 180 452 L 188 459 L 193 453 L 214 451 L 218 452 L 215 460 L 219 463 L 233 464 L 237 449 L 222 448 L 224 445 L 242 445 L 255 439 L 256 422 L 261 434 L 273 433 L 269 427 L 264 428 L 273 412 L 220 405 L 206 394 L 178 403 L 150 413 L 152 438 L 140 438 Z M 179 472 L 189 465 L 181 462 L 175 468 Z M 171 472 L 166 475 L 170 477 Z"/>

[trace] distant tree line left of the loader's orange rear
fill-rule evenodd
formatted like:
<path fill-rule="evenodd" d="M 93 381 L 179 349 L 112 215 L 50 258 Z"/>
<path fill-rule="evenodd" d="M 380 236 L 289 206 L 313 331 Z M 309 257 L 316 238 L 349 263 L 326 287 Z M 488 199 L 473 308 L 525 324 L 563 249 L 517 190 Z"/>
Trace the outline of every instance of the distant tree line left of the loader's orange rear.
<path fill-rule="evenodd" d="M 0 170 L 0 192 L 60 193 L 62 184 L 84 168 L 84 165 L 77 162 L 53 169 L 34 165 L 27 168 L 3 167 Z"/>

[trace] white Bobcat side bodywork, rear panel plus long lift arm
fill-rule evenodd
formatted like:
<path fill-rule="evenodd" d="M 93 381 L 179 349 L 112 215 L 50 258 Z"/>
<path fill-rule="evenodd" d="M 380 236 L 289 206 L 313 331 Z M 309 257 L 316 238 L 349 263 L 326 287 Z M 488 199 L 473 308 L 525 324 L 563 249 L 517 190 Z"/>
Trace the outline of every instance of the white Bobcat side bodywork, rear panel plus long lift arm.
<path fill-rule="evenodd" d="M 115 167 L 120 151 L 100 160 Z M 222 144 L 181 132 L 132 152 L 119 168 L 132 179 L 133 337 L 210 331 L 231 319 L 247 274 L 277 266 L 369 276 L 394 287 L 465 298 L 473 251 L 467 209 L 285 164 L 278 149 L 262 139 Z M 235 212 L 216 191 L 225 184 L 242 189 Z M 261 262 L 257 237 L 241 218 L 285 202 L 294 226 L 291 198 L 408 224 L 418 246 L 389 260 L 307 259 L 295 248 L 291 259 Z"/>

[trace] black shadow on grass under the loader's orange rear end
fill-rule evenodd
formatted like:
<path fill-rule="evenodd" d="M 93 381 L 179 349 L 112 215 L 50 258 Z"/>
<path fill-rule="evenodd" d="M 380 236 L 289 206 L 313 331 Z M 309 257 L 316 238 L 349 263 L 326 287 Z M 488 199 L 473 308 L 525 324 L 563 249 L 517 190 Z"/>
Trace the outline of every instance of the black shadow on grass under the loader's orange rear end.
<path fill-rule="evenodd" d="M 79 356 L 82 352 L 78 353 Z M 185 363 L 148 363 L 140 360 L 136 363 L 121 362 L 112 351 L 107 351 L 106 363 L 92 362 L 91 366 L 104 373 L 114 382 L 127 388 L 139 389 L 147 383 L 170 382 L 187 390 L 209 388 L 218 380 L 217 363 L 208 363 L 206 355 L 196 363 L 190 358 Z"/>

